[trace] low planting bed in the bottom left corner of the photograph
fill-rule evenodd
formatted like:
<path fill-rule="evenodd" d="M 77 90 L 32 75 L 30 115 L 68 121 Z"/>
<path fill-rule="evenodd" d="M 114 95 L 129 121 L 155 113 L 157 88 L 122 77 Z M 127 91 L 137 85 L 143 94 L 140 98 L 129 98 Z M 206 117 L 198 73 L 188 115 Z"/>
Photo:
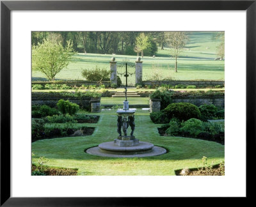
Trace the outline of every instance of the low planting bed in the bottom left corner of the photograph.
<path fill-rule="evenodd" d="M 71 168 L 54 168 L 49 166 L 43 166 L 42 169 L 34 164 L 32 164 L 31 171 L 40 171 L 40 175 L 49 175 L 49 176 L 76 176 L 78 169 L 71 169 Z M 36 174 L 34 174 L 36 175 Z"/>

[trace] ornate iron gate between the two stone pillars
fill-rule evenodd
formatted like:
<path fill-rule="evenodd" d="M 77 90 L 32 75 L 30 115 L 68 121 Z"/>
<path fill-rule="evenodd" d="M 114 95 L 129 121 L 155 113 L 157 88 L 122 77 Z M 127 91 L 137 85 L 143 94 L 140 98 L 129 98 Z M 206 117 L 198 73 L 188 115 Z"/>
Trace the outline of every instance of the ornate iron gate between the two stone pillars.
<path fill-rule="evenodd" d="M 125 59 L 116 65 L 116 75 L 121 79 L 121 86 L 135 86 L 135 64 Z"/>

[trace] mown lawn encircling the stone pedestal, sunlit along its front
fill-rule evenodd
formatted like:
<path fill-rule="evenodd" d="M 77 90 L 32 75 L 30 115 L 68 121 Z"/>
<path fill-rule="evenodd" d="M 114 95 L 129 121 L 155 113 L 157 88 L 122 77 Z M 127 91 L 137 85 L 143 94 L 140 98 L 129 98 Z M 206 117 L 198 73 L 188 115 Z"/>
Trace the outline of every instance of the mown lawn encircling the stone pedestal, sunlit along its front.
<path fill-rule="evenodd" d="M 224 146 L 216 142 L 182 137 L 161 137 L 156 125 L 149 118 L 149 112 L 136 111 L 134 135 L 140 141 L 151 142 L 168 150 L 168 153 L 145 158 L 108 158 L 89 155 L 85 149 L 101 142 L 113 141 L 116 133 L 116 112 L 100 112 L 93 135 L 86 137 L 64 137 L 44 139 L 32 143 L 35 154 L 33 162 L 44 156 L 52 167 L 78 168 L 77 175 L 174 175 L 175 169 L 200 167 L 203 156 L 209 163 L 218 164 L 224 160 Z M 77 124 L 81 125 L 81 124 Z M 84 124 L 83 124 L 84 125 Z M 130 128 L 129 128 L 130 130 Z"/>

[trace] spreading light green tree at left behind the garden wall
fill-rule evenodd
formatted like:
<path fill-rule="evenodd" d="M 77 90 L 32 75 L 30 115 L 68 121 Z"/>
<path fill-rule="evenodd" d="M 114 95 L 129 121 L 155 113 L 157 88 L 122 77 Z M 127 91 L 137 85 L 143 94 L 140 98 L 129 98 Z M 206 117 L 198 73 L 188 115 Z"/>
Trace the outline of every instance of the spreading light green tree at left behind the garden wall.
<path fill-rule="evenodd" d="M 64 48 L 61 42 L 44 40 L 43 43 L 32 46 L 32 70 L 37 70 L 46 75 L 49 81 L 54 81 L 55 76 L 67 67 L 75 54 L 69 40 Z"/>

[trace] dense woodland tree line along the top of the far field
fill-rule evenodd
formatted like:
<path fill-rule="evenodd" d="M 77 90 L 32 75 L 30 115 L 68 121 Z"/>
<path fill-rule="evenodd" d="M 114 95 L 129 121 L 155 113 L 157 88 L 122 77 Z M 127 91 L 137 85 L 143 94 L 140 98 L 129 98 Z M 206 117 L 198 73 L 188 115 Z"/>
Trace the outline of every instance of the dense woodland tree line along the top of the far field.
<path fill-rule="evenodd" d="M 139 31 L 35 31 L 32 32 L 32 45 L 43 43 L 44 39 L 51 39 L 61 42 L 63 47 L 67 46 L 67 41 L 72 41 L 72 47 L 76 52 L 88 52 L 98 54 L 125 54 L 136 55 L 142 52 L 141 56 L 152 56 L 157 53 L 157 47 L 164 45 L 160 33 Z M 138 38 L 143 36 L 147 40 L 143 45 L 136 45 Z M 141 48 L 139 48 L 141 46 Z"/>

